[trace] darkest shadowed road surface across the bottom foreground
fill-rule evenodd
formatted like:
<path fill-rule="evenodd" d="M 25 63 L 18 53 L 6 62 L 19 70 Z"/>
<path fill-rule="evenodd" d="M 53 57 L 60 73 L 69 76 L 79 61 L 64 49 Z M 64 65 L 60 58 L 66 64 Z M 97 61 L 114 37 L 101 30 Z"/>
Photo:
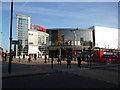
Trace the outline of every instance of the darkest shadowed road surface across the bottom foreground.
<path fill-rule="evenodd" d="M 2 88 L 117 88 L 117 85 L 63 72 L 4 79 Z"/>

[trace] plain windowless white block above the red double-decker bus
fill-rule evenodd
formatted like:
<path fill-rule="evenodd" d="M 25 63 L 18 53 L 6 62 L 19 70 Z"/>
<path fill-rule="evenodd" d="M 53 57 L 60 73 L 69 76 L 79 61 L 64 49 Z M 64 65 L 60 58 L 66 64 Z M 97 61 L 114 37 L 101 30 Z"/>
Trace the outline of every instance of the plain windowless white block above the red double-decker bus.
<path fill-rule="evenodd" d="M 118 49 L 118 29 L 93 26 L 94 46 L 101 48 Z"/>

